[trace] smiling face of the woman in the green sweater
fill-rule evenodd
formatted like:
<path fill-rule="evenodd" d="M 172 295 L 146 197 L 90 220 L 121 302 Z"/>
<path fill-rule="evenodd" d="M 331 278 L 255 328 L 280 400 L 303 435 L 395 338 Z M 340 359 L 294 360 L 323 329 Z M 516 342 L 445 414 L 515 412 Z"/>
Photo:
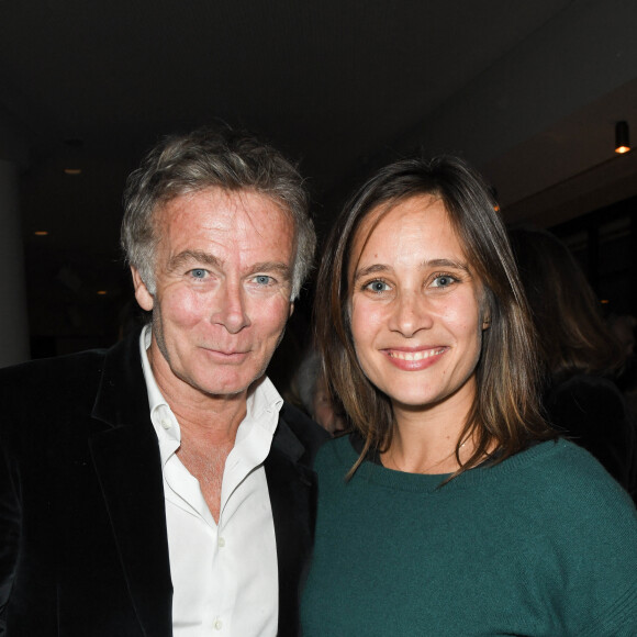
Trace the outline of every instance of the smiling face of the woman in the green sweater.
<path fill-rule="evenodd" d="M 359 364 L 394 413 L 449 400 L 468 410 L 485 328 L 482 287 L 445 205 L 416 195 L 378 220 L 372 211 L 358 230 L 348 272 Z"/>

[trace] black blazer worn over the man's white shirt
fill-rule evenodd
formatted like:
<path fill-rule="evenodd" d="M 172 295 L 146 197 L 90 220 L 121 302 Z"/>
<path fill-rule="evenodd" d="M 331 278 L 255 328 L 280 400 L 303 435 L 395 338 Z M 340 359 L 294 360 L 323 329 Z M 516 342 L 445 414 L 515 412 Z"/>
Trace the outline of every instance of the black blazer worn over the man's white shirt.
<path fill-rule="evenodd" d="M 265 461 L 281 636 L 299 633 L 325 437 L 286 405 Z M 107 351 L 0 370 L 0 635 L 170 637 L 171 603 L 138 333 Z"/>

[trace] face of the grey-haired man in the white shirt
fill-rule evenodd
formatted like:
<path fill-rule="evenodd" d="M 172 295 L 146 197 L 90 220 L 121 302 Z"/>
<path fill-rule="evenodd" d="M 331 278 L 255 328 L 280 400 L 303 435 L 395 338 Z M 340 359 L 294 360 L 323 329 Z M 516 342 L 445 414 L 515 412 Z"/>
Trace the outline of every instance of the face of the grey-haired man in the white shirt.
<path fill-rule="evenodd" d="M 135 269 L 133 279 L 153 311 L 159 388 L 175 398 L 245 394 L 292 313 L 292 221 L 262 194 L 211 188 L 172 199 L 156 224 L 155 295 Z"/>

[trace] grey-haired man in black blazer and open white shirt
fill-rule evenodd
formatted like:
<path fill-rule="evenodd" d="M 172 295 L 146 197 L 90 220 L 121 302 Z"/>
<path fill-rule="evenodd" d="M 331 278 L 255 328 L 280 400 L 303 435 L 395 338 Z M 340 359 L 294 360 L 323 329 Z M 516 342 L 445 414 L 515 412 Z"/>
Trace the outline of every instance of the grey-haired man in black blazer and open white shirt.
<path fill-rule="evenodd" d="M 314 250 L 295 169 L 224 131 L 128 179 L 152 325 L 0 371 L 0 634 L 295 635 L 322 429 L 265 370 Z"/>

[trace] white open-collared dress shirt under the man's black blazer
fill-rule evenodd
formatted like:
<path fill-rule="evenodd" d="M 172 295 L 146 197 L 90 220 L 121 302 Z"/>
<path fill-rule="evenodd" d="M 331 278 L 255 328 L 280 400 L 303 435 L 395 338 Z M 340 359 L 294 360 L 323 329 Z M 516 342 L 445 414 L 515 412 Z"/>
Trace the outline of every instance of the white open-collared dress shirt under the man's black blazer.
<path fill-rule="evenodd" d="M 199 481 L 176 451 L 179 423 L 155 381 L 146 348 L 139 347 L 150 420 L 161 454 L 175 637 L 277 634 L 277 546 L 268 483 L 262 466 L 270 450 L 283 400 L 266 378 L 247 400 L 234 448 L 223 472 L 219 524 Z"/>

